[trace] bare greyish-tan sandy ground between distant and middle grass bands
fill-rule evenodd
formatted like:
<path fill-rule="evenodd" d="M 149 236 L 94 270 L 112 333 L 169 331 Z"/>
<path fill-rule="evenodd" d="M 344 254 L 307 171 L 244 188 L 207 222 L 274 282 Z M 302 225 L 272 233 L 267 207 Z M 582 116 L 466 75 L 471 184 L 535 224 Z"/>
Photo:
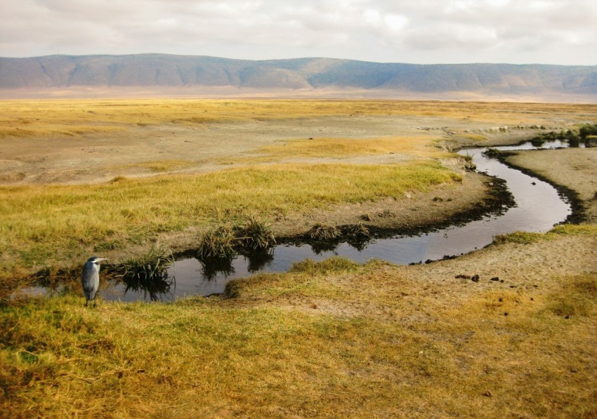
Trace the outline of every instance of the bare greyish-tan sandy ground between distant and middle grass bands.
<path fill-rule="evenodd" d="M 168 173 L 200 173 L 235 166 L 235 159 L 266 145 L 289 139 L 384 138 L 432 136 L 446 145 L 474 145 L 454 130 L 482 131 L 482 145 L 513 144 L 534 135 L 533 130 L 492 132 L 494 124 L 440 117 L 314 117 L 273 121 L 180 126 L 138 126 L 119 133 L 77 137 L 0 138 L 0 185 L 86 184 L 117 176 L 146 176 L 155 161 L 171 161 Z M 393 163 L 408 156 L 353 159 L 357 163 Z M 177 169 L 176 162 L 181 163 Z M 336 160 L 337 161 L 337 160 Z M 232 163 L 231 163 L 232 162 Z M 164 173 L 164 172 L 162 172 Z"/>

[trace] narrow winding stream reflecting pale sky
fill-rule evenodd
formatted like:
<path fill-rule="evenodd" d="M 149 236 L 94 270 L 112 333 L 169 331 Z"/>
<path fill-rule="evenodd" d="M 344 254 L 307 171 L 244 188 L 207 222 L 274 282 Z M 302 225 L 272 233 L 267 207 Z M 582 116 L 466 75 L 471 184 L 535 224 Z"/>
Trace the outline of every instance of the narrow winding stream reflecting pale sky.
<path fill-rule="evenodd" d="M 494 147 L 500 150 L 537 149 L 568 147 L 566 143 L 549 142 L 535 147 L 530 142 L 517 146 Z M 459 154 L 470 155 L 477 171 L 506 180 L 506 186 L 513 194 L 516 206 L 500 215 L 486 215 L 483 220 L 468 222 L 461 226 L 411 237 L 392 237 L 367 242 L 363 248 L 347 243 L 329 250 L 313 249 L 308 244 L 300 246 L 281 245 L 265 257 L 237 258 L 222 262 L 219 266 L 205 266 L 195 258 L 177 260 L 169 269 L 169 275 L 176 277 L 164 284 L 159 291 L 126 290 L 124 284 L 113 284 L 100 291 L 105 300 L 161 300 L 172 301 L 188 295 L 211 295 L 221 293 L 230 279 L 247 277 L 256 272 L 284 272 L 294 262 L 310 258 L 323 260 L 334 255 L 345 256 L 357 262 L 373 258 L 388 260 L 396 264 L 409 264 L 438 260 L 445 256 L 461 255 L 490 244 L 497 234 L 515 231 L 546 232 L 570 215 L 571 207 L 558 191 L 542 180 L 532 178 L 509 168 L 496 159 L 483 156 L 483 148 L 464 149 Z"/>

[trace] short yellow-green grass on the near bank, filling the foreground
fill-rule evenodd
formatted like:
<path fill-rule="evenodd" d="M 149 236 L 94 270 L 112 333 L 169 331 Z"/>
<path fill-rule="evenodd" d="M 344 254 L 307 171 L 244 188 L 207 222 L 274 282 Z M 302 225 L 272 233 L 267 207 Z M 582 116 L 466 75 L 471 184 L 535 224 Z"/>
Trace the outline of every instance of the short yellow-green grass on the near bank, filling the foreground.
<path fill-rule="evenodd" d="M 0 413 L 597 414 L 597 274 L 554 277 L 532 298 L 505 287 L 443 295 L 404 272 L 332 259 L 237 282 L 228 299 L 13 302 L 0 307 Z"/>

